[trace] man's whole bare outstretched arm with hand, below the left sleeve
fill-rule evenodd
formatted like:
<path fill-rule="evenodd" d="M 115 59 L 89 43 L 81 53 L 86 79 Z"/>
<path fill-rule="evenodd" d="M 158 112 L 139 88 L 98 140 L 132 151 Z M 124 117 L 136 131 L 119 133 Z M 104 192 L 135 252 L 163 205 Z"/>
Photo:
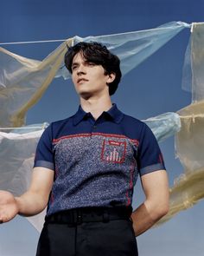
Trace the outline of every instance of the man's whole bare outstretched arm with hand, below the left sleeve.
<path fill-rule="evenodd" d="M 21 196 L 0 190 L 0 223 L 12 220 L 16 214 L 29 217 L 41 213 L 47 207 L 53 181 L 53 170 L 35 167 L 29 190 Z"/>

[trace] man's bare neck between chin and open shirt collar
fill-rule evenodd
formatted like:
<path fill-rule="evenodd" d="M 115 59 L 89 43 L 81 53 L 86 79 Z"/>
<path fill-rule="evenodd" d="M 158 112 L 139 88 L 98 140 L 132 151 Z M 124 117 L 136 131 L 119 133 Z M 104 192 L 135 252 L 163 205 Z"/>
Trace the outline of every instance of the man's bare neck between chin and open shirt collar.
<path fill-rule="evenodd" d="M 112 101 L 110 96 L 97 99 L 89 98 L 87 100 L 80 98 L 80 105 L 84 111 L 90 112 L 94 119 L 97 120 L 104 111 L 108 111 L 112 108 Z"/>

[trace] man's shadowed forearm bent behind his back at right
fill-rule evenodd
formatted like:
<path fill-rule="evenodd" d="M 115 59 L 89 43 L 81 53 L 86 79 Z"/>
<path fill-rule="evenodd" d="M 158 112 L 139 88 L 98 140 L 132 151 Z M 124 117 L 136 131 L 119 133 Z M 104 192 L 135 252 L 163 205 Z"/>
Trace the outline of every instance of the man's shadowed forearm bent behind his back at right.
<path fill-rule="evenodd" d="M 137 207 L 131 214 L 135 235 L 138 236 L 147 231 L 166 213 L 168 213 L 167 206 L 156 206 L 149 201 L 144 201 L 143 204 Z"/>

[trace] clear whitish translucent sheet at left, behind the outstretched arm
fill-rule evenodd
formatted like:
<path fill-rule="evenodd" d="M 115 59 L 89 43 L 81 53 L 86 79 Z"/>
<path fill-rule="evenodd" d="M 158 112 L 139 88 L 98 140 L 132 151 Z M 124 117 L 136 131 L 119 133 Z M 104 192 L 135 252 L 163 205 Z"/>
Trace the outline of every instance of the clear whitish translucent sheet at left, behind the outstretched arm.
<path fill-rule="evenodd" d="M 10 133 L 0 132 L 0 189 L 23 194 L 31 181 L 35 148 L 48 123 L 33 125 Z M 38 128 L 36 128 L 38 127 Z M 27 218 L 40 232 L 45 211 Z"/>

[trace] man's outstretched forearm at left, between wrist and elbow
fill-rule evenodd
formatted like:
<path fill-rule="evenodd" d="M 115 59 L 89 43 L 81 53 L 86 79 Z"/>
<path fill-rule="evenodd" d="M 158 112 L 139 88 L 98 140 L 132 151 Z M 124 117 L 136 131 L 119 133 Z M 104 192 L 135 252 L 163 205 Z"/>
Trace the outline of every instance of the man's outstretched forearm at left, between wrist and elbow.
<path fill-rule="evenodd" d="M 41 213 L 48 203 L 48 199 L 44 198 L 41 194 L 31 191 L 16 197 L 15 200 L 18 214 L 26 217 Z"/>

